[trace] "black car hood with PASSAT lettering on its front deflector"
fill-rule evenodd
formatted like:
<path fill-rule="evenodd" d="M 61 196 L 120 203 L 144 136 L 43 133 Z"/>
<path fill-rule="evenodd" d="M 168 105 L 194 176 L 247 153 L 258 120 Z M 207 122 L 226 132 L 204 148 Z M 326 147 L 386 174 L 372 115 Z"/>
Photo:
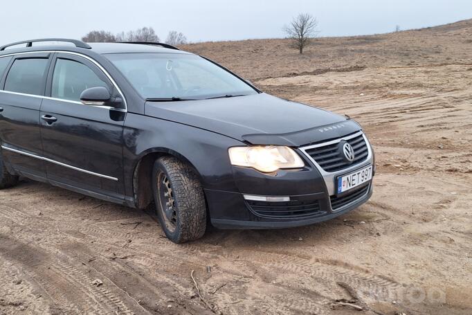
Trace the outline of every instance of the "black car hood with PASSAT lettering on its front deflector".
<path fill-rule="evenodd" d="M 254 145 L 308 145 L 361 129 L 345 116 L 266 93 L 211 100 L 146 102 L 145 115 Z"/>

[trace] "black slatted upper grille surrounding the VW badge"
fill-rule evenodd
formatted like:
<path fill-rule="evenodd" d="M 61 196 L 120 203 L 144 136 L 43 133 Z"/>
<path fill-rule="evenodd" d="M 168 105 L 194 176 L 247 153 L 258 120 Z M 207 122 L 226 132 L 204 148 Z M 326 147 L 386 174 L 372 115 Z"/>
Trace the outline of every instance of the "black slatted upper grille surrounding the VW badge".
<path fill-rule="evenodd" d="M 369 151 L 364 136 L 359 134 L 346 140 L 346 142 L 354 149 L 354 161 L 352 163 L 345 161 L 343 152 L 339 150 L 339 143 L 314 147 L 306 150 L 306 152 L 326 172 L 336 172 L 365 161 Z"/>

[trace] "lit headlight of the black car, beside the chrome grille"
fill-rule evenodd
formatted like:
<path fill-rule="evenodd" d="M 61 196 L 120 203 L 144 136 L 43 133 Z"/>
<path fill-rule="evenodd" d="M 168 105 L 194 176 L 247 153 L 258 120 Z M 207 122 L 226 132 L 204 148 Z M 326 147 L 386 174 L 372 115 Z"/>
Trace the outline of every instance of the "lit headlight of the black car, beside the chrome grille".
<path fill-rule="evenodd" d="M 230 147 L 231 165 L 255 168 L 270 173 L 280 168 L 303 168 L 305 163 L 290 147 L 274 145 L 252 147 Z"/>

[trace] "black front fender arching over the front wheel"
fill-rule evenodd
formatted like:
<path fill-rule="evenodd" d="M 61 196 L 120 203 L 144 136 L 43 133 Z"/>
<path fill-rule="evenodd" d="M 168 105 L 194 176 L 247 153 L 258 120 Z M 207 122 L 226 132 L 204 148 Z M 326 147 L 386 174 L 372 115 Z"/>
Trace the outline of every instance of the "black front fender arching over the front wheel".
<path fill-rule="evenodd" d="M 228 136 L 169 120 L 128 113 L 123 130 L 125 191 L 133 196 L 136 165 L 154 152 L 174 155 L 197 170 L 203 188 L 236 191 L 228 147 L 244 145 Z"/>

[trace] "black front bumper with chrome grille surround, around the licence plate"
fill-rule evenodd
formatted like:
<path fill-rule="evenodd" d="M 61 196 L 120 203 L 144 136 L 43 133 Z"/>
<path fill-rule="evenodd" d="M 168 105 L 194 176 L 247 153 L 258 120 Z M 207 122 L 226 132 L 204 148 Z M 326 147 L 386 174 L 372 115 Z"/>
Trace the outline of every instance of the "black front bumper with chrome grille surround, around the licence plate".
<path fill-rule="evenodd" d="M 352 136 L 340 138 L 340 141 L 349 138 Z M 336 140 L 328 144 L 333 142 Z M 365 142 L 368 147 L 365 160 L 335 172 L 325 172 L 305 151 L 320 145 L 299 149 L 307 165 L 302 170 L 263 174 L 251 168 L 233 167 L 237 192 L 205 190 L 212 225 L 217 228 L 289 228 L 323 222 L 357 208 L 372 195 L 372 181 L 339 196 L 334 193 L 335 181 L 338 176 L 374 165 L 372 147 L 367 138 Z"/>

